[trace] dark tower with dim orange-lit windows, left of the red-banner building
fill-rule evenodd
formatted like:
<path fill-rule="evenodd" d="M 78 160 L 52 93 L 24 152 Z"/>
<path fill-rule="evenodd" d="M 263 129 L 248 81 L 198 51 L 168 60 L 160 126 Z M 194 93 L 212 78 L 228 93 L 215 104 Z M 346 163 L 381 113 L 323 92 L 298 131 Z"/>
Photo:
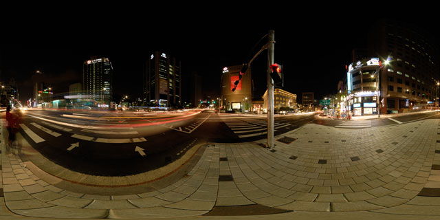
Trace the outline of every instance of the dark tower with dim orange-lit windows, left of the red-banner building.
<path fill-rule="evenodd" d="M 144 103 L 152 107 L 181 107 L 181 63 L 154 52 L 144 65 Z"/>

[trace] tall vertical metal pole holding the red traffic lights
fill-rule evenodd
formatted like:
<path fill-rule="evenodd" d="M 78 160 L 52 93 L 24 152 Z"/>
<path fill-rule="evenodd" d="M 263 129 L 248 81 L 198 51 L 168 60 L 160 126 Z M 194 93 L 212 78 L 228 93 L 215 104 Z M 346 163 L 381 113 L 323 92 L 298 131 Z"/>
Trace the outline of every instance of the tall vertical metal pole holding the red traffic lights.
<path fill-rule="evenodd" d="M 269 41 L 267 42 L 267 147 L 274 147 L 274 80 L 270 76 L 274 64 L 275 53 L 275 32 L 269 30 Z"/>

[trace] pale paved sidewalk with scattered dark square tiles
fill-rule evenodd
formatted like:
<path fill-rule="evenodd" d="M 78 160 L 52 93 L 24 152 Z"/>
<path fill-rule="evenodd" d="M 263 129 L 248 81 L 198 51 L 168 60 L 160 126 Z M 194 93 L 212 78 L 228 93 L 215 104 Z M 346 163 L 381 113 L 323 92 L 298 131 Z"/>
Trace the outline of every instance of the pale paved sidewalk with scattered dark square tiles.
<path fill-rule="evenodd" d="M 125 195 L 49 184 L 56 177 L 6 155 L 2 140 L 0 219 L 438 219 L 438 129 L 434 119 L 350 131 L 306 124 L 276 136 L 274 149 L 206 144 L 179 181 Z"/>

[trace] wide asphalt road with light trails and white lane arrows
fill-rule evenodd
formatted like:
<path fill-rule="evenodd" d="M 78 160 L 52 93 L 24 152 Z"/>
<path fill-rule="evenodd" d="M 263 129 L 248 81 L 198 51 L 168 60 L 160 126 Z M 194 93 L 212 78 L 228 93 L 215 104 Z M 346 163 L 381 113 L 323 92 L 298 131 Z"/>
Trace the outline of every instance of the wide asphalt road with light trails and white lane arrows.
<path fill-rule="evenodd" d="M 124 176 L 154 170 L 204 142 L 267 137 L 267 115 L 214 111 L 63 111 L 21 113 L 20 132 L 50 161 L 89 175 Z M 279 115 L 275 135 L 315 120 L 314 113 Z"/>

